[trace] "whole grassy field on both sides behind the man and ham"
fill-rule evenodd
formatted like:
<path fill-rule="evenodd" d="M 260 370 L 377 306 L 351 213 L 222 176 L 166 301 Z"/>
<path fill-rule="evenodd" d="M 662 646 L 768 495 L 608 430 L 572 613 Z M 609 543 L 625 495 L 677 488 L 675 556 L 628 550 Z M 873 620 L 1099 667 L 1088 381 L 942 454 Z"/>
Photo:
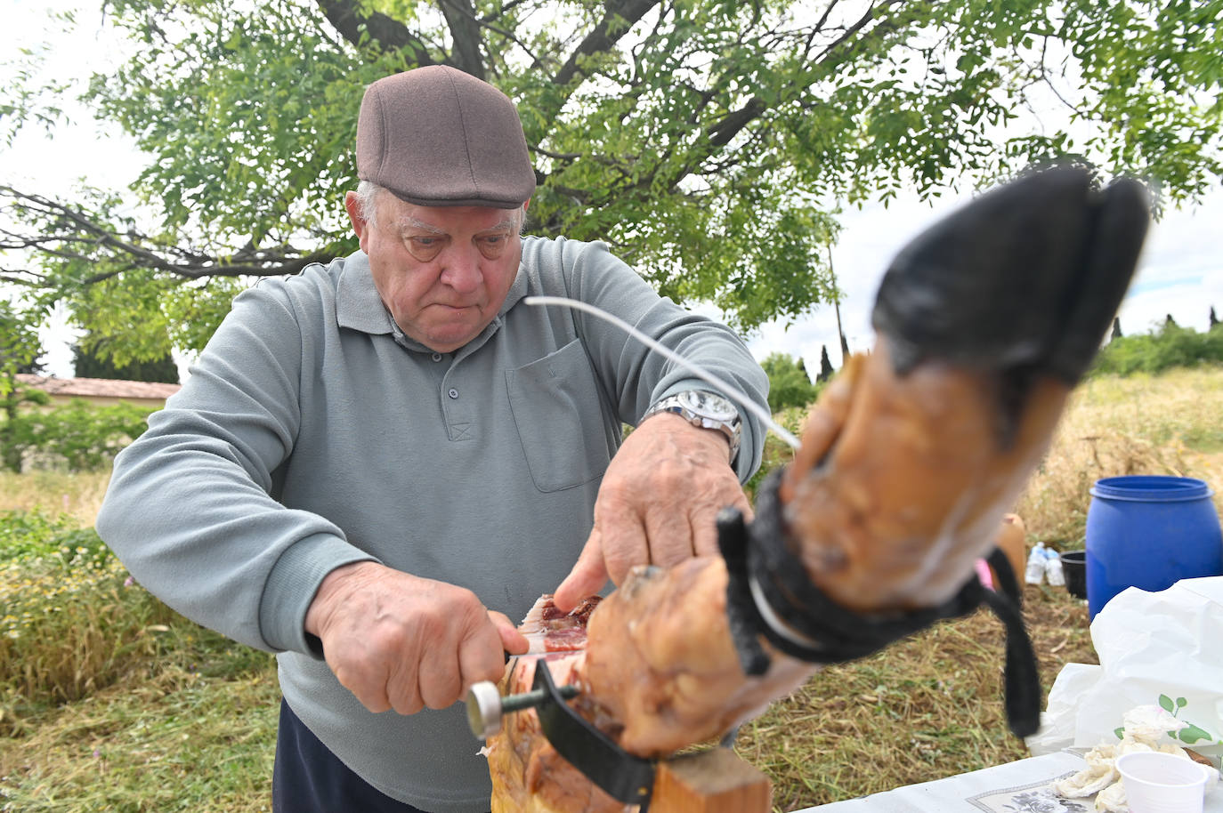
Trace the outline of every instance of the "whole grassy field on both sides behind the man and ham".
<path fill-rule="evenodd" d="M 1125 473 L 1221 483 L 1223 370 L 1086 384 L 1016 506 L 1029 542 L 1081 548 L 1087 488 Z M 0 476 L 10 528 L 0 535 L 0 811 L 270 809 L 272 658 L 127 582 L 81 531 L 105 480 Z M 67 544 L 13 553 L 18 515 Z M 1065 663 L 1096 663 L 1082 601 L 1027 587 L 1025 614 L 1046 692 Z M 1026 751 L 1007 731 L 1002 663 L 993 616 L 943 624 L 818 672 L 744 726 L 736 747 L 773 779 L 778 811 L 1018 759 Z"/>

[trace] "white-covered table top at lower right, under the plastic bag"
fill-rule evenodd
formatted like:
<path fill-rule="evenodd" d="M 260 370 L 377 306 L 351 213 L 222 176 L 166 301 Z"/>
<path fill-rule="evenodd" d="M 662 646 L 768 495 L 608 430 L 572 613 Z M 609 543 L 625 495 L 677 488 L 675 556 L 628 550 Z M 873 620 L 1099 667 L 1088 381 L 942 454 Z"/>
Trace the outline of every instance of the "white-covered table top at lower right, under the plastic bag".
<path fill-rule="evenodd" d="M 794 813 L 1095 813 L 1092 797 L 1063 800 L 1049 787 L 1085 765 L 1059 751 Z M 1223 813 L 1223 784 L 1207 791 L 1202 813 Z"/>

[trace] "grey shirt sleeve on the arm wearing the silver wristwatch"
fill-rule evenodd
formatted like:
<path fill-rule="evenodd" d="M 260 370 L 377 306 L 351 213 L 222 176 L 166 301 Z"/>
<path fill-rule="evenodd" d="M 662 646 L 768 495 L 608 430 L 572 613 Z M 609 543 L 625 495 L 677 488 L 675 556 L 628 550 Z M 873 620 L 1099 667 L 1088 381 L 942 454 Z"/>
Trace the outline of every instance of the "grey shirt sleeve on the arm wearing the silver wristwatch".
<path fill-rule="evenodd" d="M 767 429 L 739 401 L 746 396 L 768 411 L 768 375 L 752 358 L 747 345 L 726 325 L 660 297 L 603 243 L 581 246 L 583 248 L 574 252 L 574 259 L 566 263 L 569 296 L 619 317 L 735 389 L 722 395 L 739 406 L 742 440 L 735 469 L 739 480 L 746 483 L 759 468 Z M 576 313 L 574 318 L 625 423 L 636 425 L 651 405 L 668 395 L 719 389 L 615 325 L 586 313 Z"/>

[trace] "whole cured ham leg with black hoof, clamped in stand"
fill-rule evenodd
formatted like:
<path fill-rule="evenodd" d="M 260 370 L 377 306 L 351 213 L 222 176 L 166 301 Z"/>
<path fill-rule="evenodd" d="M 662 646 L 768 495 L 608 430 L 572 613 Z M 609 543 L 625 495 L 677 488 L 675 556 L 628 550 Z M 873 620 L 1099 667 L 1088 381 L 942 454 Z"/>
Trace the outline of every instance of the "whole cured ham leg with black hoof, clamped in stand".
<path fill-rule="evenodd" d="M 755 550 L 770 551 L 752 571 L 753 587 L 764 582 L 752 600 L 774 619 L 758 636 L 768 669 L 741 666 L 726 561 L 638 568 L 591 615 L 585 652 L 550 661 L 558 683 L 581 688 L 574 707 L 625 751 L 669 754 L 752 716 L 816 668 L 769 644 L 823 641 L 822 613 L 795 593 L 818 592 L 866 631 L 955 597 L 1095 356 L 1147 218 L 1139 185 L 1101 192 L 1081 170 L 1053 170 L 914 241 L 881 286 L 874 351 L 826 390 L 767 494 L 777 520 L 748 529 Z M 770 565 L 778 551 L 794 566 Z M 530 688 L 531 668 L 510 670 L 510 692 Z M 512 716 L 504 742 L 489 745 L 495 813 L 620 809 L 549 756 L 533 713 Z"/>

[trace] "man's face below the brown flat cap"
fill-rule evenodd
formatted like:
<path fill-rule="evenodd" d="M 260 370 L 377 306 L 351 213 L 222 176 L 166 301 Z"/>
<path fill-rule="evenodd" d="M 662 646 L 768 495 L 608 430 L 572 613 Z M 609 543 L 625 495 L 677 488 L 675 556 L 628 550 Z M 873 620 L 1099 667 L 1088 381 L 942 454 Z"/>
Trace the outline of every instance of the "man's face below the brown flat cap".
<path fill-rule="evenodd" d="M 345 200 L 374 286 L 400 329 L 449 353 L 500 311 L 522 253 L 519 209 L 419 207 L 379 193 L 373 220 Z"/>

